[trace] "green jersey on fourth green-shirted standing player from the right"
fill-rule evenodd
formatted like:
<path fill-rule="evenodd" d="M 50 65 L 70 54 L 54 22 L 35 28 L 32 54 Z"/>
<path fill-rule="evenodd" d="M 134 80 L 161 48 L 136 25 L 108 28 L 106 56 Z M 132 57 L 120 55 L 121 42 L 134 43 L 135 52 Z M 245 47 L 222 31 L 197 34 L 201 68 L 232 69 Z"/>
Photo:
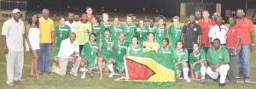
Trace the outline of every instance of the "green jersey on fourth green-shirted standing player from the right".
<path fill-rule="evenodd" d="M 136 36 L 138 37 L 138 41 L 139 42 L 144 42 L 147 40 L 147 33 L 148 33 L 148 29 L 147 26 L 143 26 L 143 28 L 139 28 L 137 27 L 137 32 L 136 32 Z"/>

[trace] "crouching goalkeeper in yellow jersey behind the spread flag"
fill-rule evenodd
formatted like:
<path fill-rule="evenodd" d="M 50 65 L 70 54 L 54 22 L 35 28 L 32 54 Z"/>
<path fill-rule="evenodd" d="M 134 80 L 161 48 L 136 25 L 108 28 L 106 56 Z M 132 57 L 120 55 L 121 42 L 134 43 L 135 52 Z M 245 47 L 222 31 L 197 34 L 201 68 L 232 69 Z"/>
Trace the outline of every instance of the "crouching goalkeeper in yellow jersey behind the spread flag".
<path fill-rule="evenodd" d="M 148 41 L 143 42 L 143 53 L 153 50 L 157 53 L 159 44 L 157 42 L 154 42 L 154 33 L 149 32 L 148 33 Z"/>

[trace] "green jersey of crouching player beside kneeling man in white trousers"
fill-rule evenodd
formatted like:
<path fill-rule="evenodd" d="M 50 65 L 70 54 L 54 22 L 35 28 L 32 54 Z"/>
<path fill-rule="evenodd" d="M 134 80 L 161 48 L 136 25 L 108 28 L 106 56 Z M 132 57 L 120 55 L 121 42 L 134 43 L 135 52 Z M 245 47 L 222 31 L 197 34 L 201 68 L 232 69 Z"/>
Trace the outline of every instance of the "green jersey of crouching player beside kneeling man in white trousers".
<path fill-rule="evenodd" d="M 198 60 L 206 60 L 206 54 L 202 47 L 199 49 L 199 53 L 192 52 L 189 54 L 189 64 L 194 64 Z"/>

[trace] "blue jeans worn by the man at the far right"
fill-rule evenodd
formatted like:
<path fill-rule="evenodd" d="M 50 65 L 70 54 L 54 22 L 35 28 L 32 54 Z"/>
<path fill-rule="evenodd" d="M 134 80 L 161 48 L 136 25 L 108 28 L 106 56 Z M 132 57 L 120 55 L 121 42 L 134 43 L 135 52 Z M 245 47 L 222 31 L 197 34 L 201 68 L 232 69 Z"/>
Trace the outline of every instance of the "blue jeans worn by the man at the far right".
<path fill-rule="evenodd" d="M 241 44 L 241 50 L 238 54 L 237 64 L 239 67 L 239 75 L 244 79 L 250 79 L 250 57 L 251 45 Z"/>

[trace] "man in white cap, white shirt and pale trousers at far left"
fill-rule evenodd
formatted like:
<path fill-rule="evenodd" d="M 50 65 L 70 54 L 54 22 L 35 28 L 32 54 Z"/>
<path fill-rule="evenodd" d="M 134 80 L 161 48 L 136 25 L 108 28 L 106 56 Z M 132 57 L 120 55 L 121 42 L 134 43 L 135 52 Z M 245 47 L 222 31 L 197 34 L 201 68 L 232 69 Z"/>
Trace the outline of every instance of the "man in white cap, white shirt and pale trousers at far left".
<path fill-rule="evenodd" d="M 6 57 L 6 72 L 8 86 L 15 86 L 14 81 L 25 81 L 21 78 L 24 64 L 23 34 L 24 23 L 20 19 L 20 10 L 15 8 L 12 18 L 3 23 L 2 41 L 3 53 Z"/>

